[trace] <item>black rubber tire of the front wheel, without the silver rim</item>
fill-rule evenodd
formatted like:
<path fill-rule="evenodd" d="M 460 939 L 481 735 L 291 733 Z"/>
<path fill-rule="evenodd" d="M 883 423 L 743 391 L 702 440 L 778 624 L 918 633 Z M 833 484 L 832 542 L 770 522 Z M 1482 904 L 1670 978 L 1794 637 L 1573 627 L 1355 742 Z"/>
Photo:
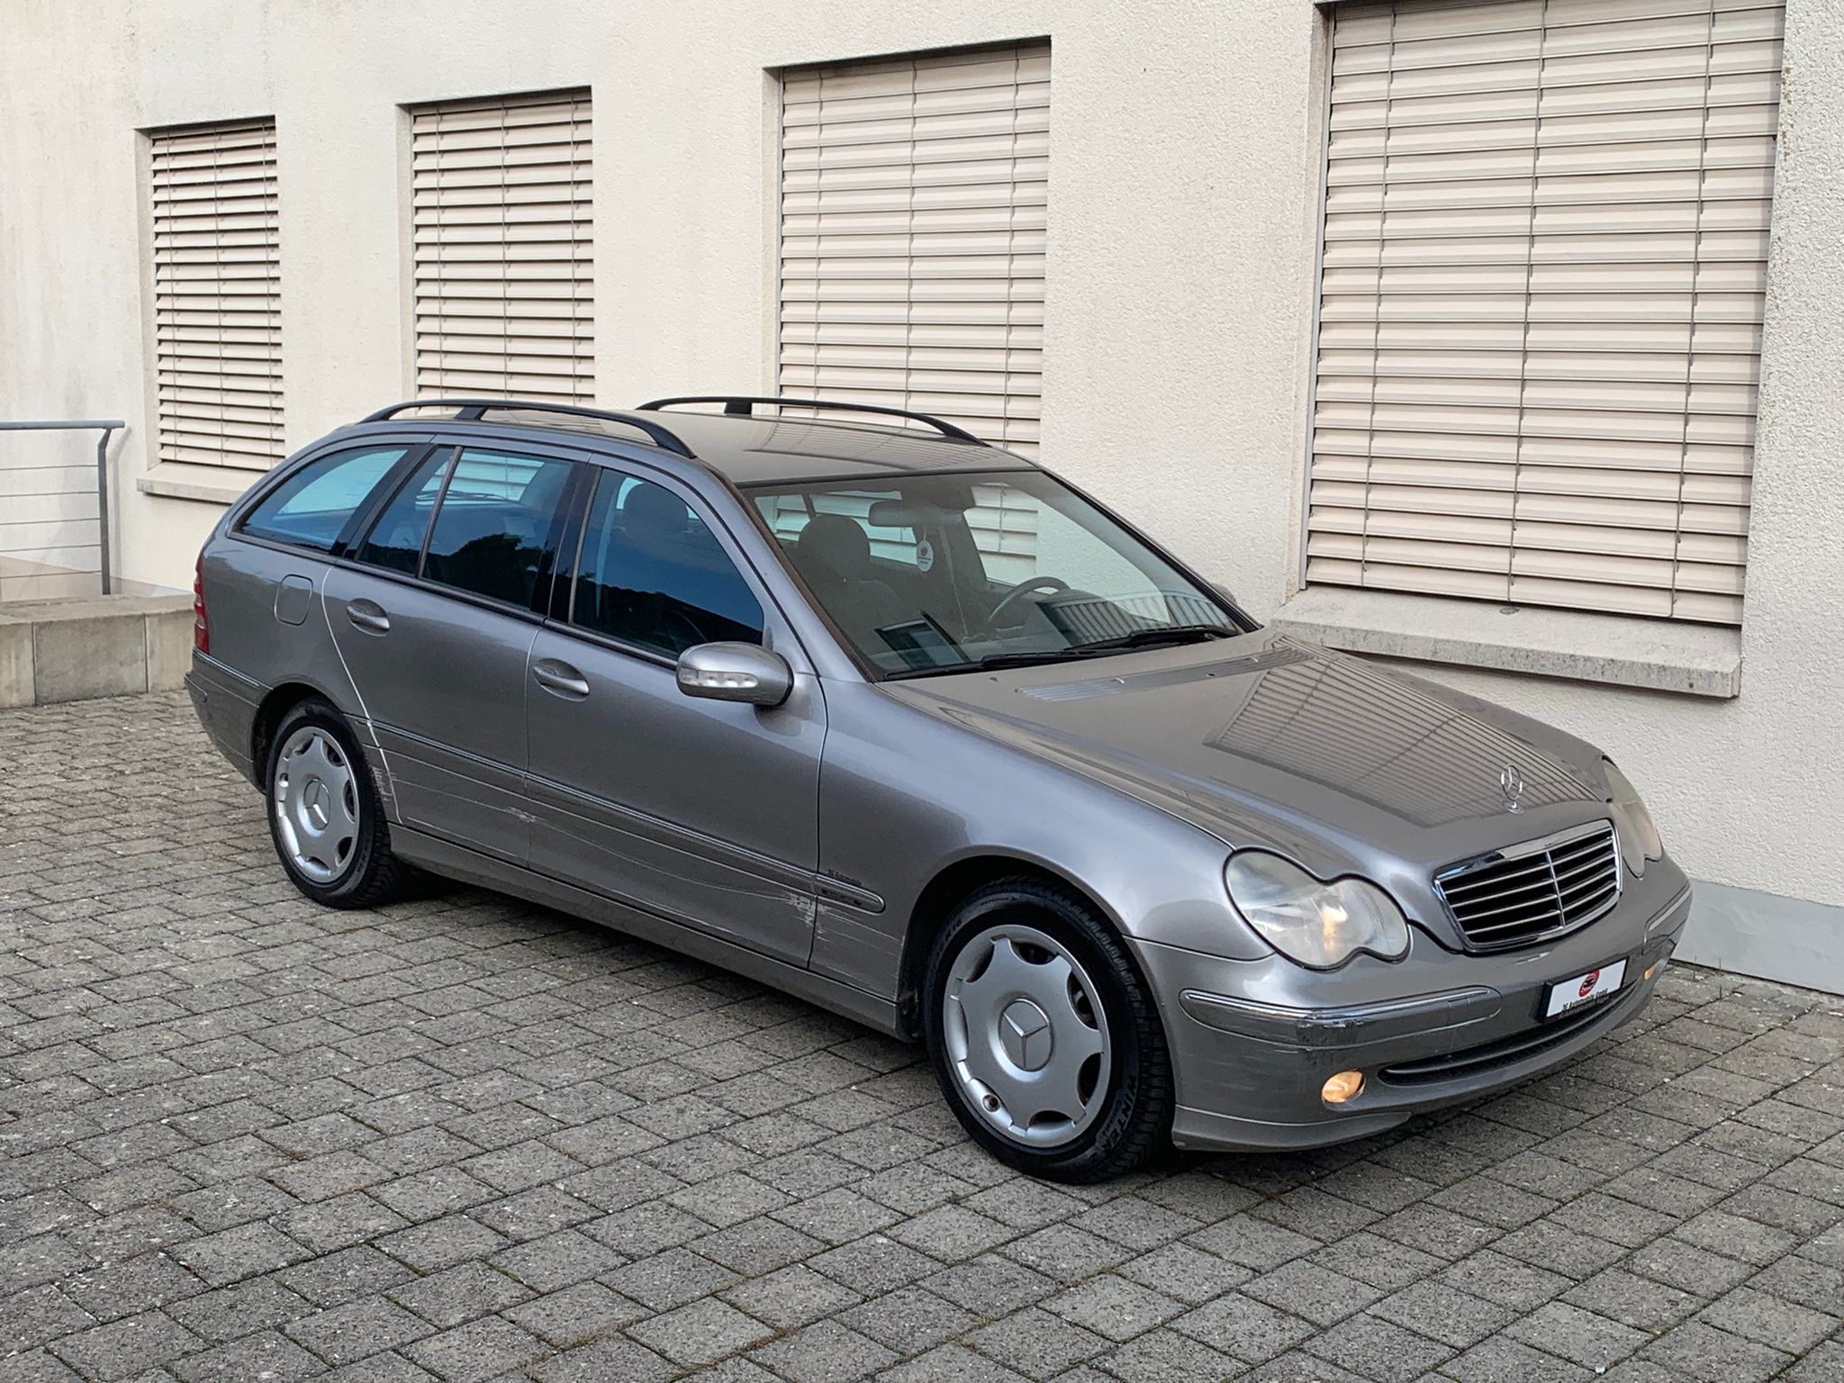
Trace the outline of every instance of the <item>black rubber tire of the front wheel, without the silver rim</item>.
<path fill-rule="evenodd" d="M 1023 922 L 1081 961 L 1099 990 L 1108 1023 L 1114 1055 L 1103 1103 L 1081 1134 L 1053 1149 L 1007 1138 L 981 1117 L 953 1075 L 948 1053 L 942 999 L 955 957 L 979 933 L 1003 922 Z M 929 948 L 922 1027 L 948 1106 L 972 1140 L 1009 1167 L 1055 1182 L 1101 1182 L 1134 1171 L 1171 1147 L 1171 1053 L 1158 1005 L 1119 933 L 1095 916 L 1088 900 L 1073 889 L 1020 876 L 988 883 L 966 898 Z"/>

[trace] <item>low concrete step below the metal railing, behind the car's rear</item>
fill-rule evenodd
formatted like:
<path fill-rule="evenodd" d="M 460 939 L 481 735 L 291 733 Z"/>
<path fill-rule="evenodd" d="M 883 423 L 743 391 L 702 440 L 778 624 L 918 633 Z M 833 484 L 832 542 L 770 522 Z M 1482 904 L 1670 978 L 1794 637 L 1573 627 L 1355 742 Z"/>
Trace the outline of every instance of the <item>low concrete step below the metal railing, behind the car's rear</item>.
<path fill-rule="evenodd" d="M 0 605 L 0 706 L 170 692 L 192 666 L 190 596 Z"/>

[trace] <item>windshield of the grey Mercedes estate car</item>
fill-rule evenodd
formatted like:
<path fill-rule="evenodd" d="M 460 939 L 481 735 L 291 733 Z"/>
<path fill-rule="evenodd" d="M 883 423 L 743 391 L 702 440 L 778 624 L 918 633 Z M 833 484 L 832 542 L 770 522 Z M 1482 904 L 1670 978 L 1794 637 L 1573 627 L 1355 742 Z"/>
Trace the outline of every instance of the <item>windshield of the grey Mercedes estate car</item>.
<path fill-rule="evenodd" d="M 889 677 L 1228 638 L 1243 625 L 1038 470 L 749 491 L 787 564 Z"/>

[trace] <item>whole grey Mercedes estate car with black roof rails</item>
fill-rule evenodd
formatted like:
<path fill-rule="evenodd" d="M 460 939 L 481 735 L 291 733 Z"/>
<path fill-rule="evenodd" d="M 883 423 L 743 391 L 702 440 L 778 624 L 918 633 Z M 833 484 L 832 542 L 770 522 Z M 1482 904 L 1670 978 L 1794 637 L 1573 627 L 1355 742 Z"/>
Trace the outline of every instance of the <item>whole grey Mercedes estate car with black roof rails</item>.
<path fill-rule="evenodd" d="M 730 966 L 926 1042 L 1053 1178 L 1523 1081 L 1689 911 L 1591 745 L 1263 629 L 922 415 L 389 408 L 229 509 L 195 623 L 310 898 L 426 870 Z"/>

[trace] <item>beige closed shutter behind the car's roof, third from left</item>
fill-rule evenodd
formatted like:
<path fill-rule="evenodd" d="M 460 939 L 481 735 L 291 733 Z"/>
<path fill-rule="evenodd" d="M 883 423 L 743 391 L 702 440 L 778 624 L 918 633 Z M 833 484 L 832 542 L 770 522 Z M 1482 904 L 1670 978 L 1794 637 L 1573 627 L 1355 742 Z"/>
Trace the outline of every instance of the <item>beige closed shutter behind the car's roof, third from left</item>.
<path fill-rule="evenodd" d="M 786 72 L 782 391 L 1034 454 L 1047 155 L 1047 42 Z"/>

